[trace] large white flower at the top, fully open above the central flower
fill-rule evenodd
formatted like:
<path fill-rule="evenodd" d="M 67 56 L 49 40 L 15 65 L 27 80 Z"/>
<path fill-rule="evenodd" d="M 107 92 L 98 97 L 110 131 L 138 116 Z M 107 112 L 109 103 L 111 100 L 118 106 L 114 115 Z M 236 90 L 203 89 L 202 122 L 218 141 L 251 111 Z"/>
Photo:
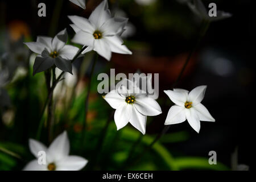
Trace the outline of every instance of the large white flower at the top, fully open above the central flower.
<path fill-rule="evenodd" d="M 94 50 L 106 60 L 110 60 L 112 52 L 131 54 L 120 38 L 127 19 L 111 18 L 108 1 L 100 3 L 89 19 L 75 15 L 68 18 L 74 23 L 71 27 L 76 32 L 72 42 L 88 46 L 83 54 Z"/>

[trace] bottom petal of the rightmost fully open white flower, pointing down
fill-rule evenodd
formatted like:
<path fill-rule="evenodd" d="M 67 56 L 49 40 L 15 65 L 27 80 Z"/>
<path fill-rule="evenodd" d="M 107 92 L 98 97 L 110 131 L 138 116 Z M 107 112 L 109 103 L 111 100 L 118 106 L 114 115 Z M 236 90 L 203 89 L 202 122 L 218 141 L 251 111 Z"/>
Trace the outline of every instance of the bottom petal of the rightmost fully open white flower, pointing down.
<path fill-rule="evenodd" d="M 189 125 L 197 132 L 200 131 L 200 120 L 199 116 L 197 115 L 197 111 L 192 107 L 190 109 L 185 109 L 186 117 L 188 120 Z"/>

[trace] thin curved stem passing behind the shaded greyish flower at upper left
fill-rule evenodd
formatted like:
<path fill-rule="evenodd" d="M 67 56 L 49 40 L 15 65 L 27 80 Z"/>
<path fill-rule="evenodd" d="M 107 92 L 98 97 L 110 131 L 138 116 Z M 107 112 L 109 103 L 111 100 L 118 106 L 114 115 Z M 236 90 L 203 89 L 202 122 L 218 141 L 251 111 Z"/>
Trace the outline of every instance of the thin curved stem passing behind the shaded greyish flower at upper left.
<path fill-rule="evenodd" d="M 80 49 L 79 52 L 77 52 L 76 56 L 72 59 L 71 63 L 73 63 L 77 59 L 77 57 L 79 57 L 81 55 L 82 51 L 84 51 L 85 48 L 86 47 L 83 47 L 82 49 Z M 52 94 L 53 94 L 53 90 L 55 89 L 57 83 L 62 80 L 62 76 L 64 75 L 64 73 L 65 73 L 64 71 L 61 72 L 60 75 L 56 78 L 55 82 L 53 82 L 52 86 L 50 87 L 50 92 L 48 92 L 48 96 L 46 98 L 46 102 L 44 103 L 43 110 L 42 110 L 42 113 L 40 115 L 40 120 L 39 120 L 40 123 L 39 123 L 38 131 L 36 133 L 36 139 L 37 140 L 40 139 L 40 135 L 41 135 L 43 124 L 44 124 L 44 120 L 43 120 L 44 111 L 46 110 L 46 107 L 47 107 L 49 101 L 51 100 L 51 97 L 52 97 Z"/>

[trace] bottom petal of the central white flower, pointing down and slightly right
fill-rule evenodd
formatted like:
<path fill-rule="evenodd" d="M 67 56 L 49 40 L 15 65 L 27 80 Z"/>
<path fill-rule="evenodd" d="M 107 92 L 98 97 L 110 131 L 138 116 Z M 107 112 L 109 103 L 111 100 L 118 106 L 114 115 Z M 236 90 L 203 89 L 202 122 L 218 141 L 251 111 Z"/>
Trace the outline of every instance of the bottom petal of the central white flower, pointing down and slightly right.
<path fill-rule="evenodd" d="M 132 109 L 131 118 L 129 121 L 131 125 L 133 125 L 137 130 L 141 131 L 143 135 L 146 133 L 147 116 L 139 113 L 135 107 Z"/>

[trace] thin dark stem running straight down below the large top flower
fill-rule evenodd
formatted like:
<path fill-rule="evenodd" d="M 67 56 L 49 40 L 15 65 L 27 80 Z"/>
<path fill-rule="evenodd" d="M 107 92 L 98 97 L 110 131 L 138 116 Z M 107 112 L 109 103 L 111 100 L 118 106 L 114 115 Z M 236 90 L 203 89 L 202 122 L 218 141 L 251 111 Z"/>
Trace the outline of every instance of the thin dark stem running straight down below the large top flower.
<path fill-rule="evenodd" d="M 86 93 L 86 97 L 85 97 L 85 114 L 84 114 L 84 122 L 82 123 L 82 138 L 81 138 L 81 151 L 82 151 L 82 147 L 84 146 L 84 141 L 85 141 L 85 130 L 86 130 L 86 122 L 87 122 L 87 113 L 88 113 L 88 102 L 89 102 L 89 96 L 90 96 L 90 89 L 92 87 L 92 76 L 93 76 L 93 72 L 94 72 L 94 68 L 96 65 L 96 62 L 98 60 L 98 54 L 96 53 L 95 58 L 93 59 L 93 64 L 92 64 L 92 69 L 90 71 L 90 75 L 89 75 L 89 82 L 88 82 L 88 86 L 87 86 L 87 93 Z"/>

